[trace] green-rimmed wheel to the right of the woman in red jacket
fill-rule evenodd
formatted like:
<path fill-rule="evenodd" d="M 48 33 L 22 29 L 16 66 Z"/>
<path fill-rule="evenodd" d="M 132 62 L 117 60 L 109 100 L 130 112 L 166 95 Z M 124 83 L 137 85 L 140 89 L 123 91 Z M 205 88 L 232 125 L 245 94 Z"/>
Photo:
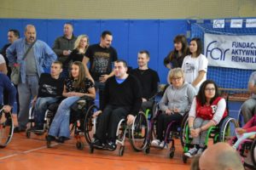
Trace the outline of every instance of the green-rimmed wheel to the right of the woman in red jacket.
<path fill-rule="evenodd" d="M 233 136 L 236 136 L 236 127 L 239 127 L 239 124 L 235 118 L 230 116 L 225 117 L 220 125 L 219 141 L 225 142 Z"/>

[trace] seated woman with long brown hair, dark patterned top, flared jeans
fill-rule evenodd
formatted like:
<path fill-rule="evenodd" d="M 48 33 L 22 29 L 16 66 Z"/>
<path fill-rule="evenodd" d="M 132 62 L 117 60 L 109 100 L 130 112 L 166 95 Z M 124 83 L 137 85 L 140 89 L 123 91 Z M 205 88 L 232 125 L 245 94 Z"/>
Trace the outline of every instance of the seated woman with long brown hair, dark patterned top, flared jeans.
<path fill-rule="evenodd" d="M 49 127 L 47 141 L 56 140 L 64 143 L 70 138 L 69 120 L 71 106 L 81 97 L 96 98 L 93 82 L 85 77 L 84 65 L 80 61 L 73 62 L 69 78 L 64 82 L 63 94 L 66 99 L 61 101 L 53 122 Z"/>

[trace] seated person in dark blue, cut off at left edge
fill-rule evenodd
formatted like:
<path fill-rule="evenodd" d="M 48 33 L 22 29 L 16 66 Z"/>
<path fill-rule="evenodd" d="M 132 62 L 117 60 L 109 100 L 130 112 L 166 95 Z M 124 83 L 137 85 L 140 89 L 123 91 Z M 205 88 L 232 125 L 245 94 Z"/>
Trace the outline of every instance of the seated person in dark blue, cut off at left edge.
<path fill-rule="evenodd" d="M 3 105 L 3 111 L 8 113 L 12 110 L 14 104 L 15 104 L 15 98 L 16 98 L 16 88 L 12 82 L 10 82 L 9 77 L 7 77 L 5 74 L 0 72 L 0 104 L 3 104 L 2 101 L 2 95 L 3 90 L 7 91 L 9 94 L 9 103 L 8 105 Z"/>

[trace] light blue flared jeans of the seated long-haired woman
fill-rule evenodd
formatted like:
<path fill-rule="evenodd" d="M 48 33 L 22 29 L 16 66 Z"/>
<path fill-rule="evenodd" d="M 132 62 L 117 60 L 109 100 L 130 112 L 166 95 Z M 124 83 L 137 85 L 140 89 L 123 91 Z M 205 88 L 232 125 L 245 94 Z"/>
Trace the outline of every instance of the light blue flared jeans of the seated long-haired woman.
<path fill-rule="evenodd" d="M 55 114 L 55 118 L 49 127 L 49 135 L 55 137 L 66 137 L 69 139 L 70 106 L 79 99 L 79 97 L 73 96 L 61 101 L 61 104 Z"/>

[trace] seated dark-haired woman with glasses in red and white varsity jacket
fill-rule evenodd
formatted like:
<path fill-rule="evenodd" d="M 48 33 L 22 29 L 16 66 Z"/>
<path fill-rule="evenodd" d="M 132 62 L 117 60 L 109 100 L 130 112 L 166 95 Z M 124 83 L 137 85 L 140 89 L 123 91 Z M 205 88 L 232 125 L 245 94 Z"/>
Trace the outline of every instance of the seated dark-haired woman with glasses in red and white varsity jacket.
<path fill-rule="evenodd" d="M 201 154 L 205 149 L 207 129 L 217 126 L 227 115 L 226 101 L 219 96 L 217 84 L 212 80 L 203 82 L 189 111 L 189 131 L 194 148 L 185 153 L 185 156 Z"/>

